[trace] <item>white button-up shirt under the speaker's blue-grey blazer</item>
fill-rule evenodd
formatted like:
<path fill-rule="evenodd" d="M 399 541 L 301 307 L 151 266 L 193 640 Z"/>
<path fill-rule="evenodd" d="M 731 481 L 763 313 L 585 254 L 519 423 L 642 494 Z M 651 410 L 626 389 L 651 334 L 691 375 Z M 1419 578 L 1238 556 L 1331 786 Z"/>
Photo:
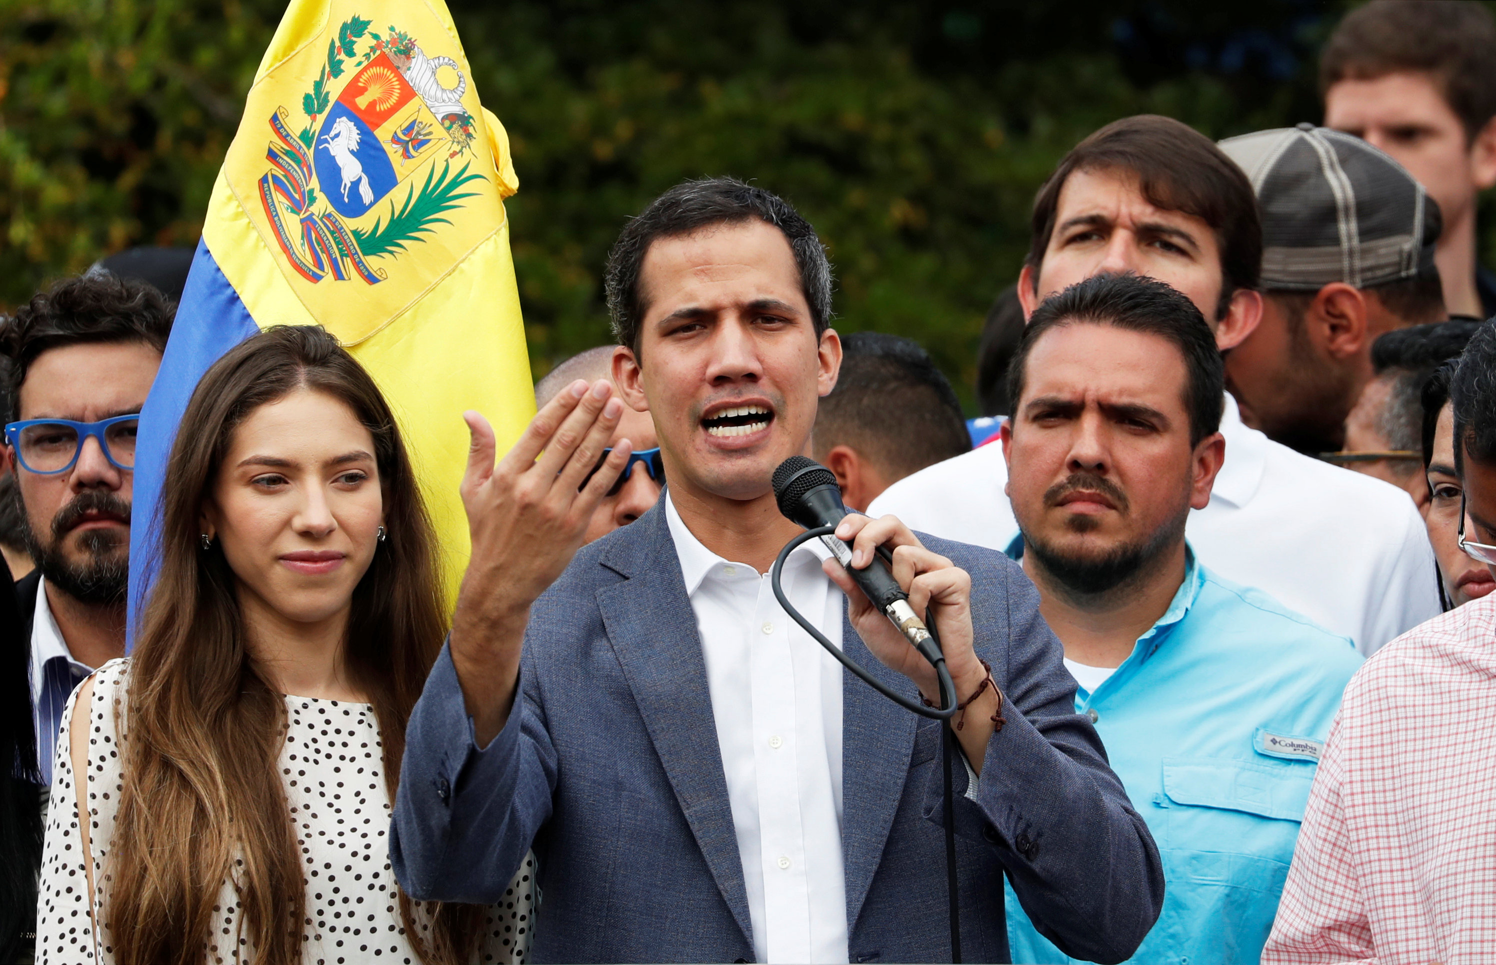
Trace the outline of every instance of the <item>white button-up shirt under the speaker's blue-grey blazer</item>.
<path fill-rule="evenodd" d="M 696 612 L 744 863 L 754 958 L 845 962 L 842 667 L 773 598 L 769 575 L 723 560 L 666 521 Z M 790 603 L 841 646 L 844 600 L 820 540 L 784 566 Z"/>

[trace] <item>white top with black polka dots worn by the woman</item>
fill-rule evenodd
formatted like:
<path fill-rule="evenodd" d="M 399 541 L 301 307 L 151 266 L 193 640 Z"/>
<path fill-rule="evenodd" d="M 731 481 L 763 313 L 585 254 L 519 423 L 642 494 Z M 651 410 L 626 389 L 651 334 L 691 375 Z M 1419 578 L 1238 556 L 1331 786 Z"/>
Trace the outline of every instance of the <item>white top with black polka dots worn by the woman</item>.
<path fill-rule="evenodd" d="M 120 800 L 120 727 L 129 660 L 105 664 L 94 676 L 88 748 L 90 850 L 78 833 L 78 797 L 69 742 L 57 742 L 52 797 L 37 908 L 36 961 L 51 965 L 105 965 L 109 926 L 94 935 L 84 862 L 94 881 L 103 878 Z M 75 693 L 76 697 L 76 693 Z M 61 733 L 76 711 L 69 702 Z M 378 724 L 367 703 L 286 697 L 287 733 L 281 750 L 281 779 L 304 857 L 307 926 L 302 962 L 419 962 L 399 916 L 395 875 L 389 865 L 390 802 L 384 790 Z M 504 901 L 491 907 L 479 962 L 524 962 L 530 952 L 539 901 L 534 857 L 510 881 Z M 221 913 L 203 949 L 203 962 L 251 962 L 253 949 L 239 937 L 239 907 L 224 881 L 215 908 Z M 416 905 L 416 920 L 425 908 Z"/>

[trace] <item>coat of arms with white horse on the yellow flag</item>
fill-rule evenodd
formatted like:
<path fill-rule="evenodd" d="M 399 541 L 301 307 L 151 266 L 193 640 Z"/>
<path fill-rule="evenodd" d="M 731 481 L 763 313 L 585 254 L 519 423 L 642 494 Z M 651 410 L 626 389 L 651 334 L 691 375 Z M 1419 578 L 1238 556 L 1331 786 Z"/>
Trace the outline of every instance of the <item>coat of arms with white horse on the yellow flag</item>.
<path fill-rule="evenodd" d="M 353 13 L 329 30 L 325 49 L 307 46 L 274 66 L 283 76 L 265 85 L 278 94 L 260 115 L 265 151 L 235 156 L 241 126 L 224 163 L 296 295 L 350 344 L 504 220 L 495 192 L 476 184 L 497 172 L 476 144 L 483 118 L 476 100 L 467 103 L 461 49 L 431 21 L 404 27 L 380 31 Z M 244 126 L 254 123 L 254 100 L 251 93 Z M 381 289 L 361 295 L 352 322 L 337 316 L 349 284 Z"/>

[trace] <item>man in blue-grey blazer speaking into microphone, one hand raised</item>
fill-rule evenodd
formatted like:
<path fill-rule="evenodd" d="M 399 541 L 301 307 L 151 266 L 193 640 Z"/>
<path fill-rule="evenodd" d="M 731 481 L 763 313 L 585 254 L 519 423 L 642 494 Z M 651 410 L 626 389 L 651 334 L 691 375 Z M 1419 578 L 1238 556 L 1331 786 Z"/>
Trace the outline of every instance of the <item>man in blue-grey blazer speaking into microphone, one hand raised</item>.
<path fill-rule="evenodd" d="M 802 533 L 770 480 L 808 455 L 836 383 L 830 265 L 814 229 L 732 180 L 681 184 L 607 266 L 607 382 L 546 405 L 497 465 L 470 414 L 473 557 L 411 714 L 390 856 L 417 899 L 494 902 L 527 848 L 534 961 L 950 961 L 939 724 L 844 670 L 767 576 Z M 577 551 L 649 411 L 667 491 Z M 1107 768 L 1022 572 L 992 551 L 848 516 L 929 613 L 962 706 L 954 830 L 966 961 L 1008 956 L 1004 875 L 1068 955 L 1128 958 L 1158 916 L 1147 827 Z M 931 664 L 818 542 L 784 592 L 907 700 Z"/>

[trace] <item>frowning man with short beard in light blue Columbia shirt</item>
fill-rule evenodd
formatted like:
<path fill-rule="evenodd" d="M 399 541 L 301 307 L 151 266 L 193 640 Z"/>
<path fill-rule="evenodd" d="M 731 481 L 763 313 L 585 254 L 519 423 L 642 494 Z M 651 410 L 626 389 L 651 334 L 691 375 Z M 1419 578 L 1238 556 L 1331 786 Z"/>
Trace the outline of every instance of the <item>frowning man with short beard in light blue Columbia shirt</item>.
<path fill-rule="evenodd" d="M 1164 910 L 1134 962 L 1258 961 L 1361 663 L 1346 637 L 1215 576 L 1185 542 L 1225 452 L 1222 377 L 1200 310 L 1134 275 L 1047 299 L 1008 374 L 1008 552 L 1162 856 Z M 1013 898 L 1007 916 L 1014 962 L 1076 961 Z"/>

